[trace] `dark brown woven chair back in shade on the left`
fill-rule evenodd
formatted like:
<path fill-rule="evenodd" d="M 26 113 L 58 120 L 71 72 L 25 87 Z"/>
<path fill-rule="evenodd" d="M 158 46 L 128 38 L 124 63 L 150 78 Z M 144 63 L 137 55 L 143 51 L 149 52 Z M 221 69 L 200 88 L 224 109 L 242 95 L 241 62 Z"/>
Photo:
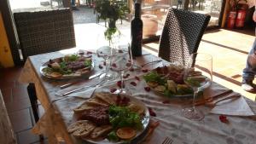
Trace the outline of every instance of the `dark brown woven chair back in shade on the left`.
<path fill-rule="evenodd" d="M 14 18 L 24 60 L 76 46 L 71 9 L 16 12 Z"/>

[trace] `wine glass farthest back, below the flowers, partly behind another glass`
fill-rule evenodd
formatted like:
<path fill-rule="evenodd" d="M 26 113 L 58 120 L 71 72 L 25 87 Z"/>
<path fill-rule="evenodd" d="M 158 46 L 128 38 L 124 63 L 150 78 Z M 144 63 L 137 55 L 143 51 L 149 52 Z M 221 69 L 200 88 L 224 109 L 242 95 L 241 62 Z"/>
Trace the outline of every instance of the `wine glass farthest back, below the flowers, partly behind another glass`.
<path fill-rule="evenodd" d="M 109 67 L 111 62 L 110 59 L 114 55 L 115 49 L 109 46 L 102 46 L 101 48 L 96 50 L 96 53 L 99 57 L 102 57 L 104 59 L 104 65 L 106 66 L 104 73 L 104 82 L 102 83 L 108 82 L 113 78 L 112 75 L 109 73 Z"/>

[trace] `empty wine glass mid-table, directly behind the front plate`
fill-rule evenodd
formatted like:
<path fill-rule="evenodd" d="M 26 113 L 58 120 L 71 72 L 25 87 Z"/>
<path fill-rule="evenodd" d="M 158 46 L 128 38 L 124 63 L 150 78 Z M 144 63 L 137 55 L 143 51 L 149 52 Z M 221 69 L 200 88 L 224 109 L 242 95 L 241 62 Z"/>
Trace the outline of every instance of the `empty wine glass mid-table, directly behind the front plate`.
<path fill-rule="evenodd" d="M 114 72 L 118 72 L 120 76 L 120 85 L 119 89 L 116 90 L 115 93 L 117 94 L 125 94 L 125 95 L 131 95 L 131 92 L 128 89 L 125 89 L 124 84 L 124 74 L 127 72 L 131 66 L 132 66 L 132 60 L 131 60 L 131 51 L 127 46 L 124 47 L 117 47 L 116 53 L 113 56 L 111 69 Z"/>

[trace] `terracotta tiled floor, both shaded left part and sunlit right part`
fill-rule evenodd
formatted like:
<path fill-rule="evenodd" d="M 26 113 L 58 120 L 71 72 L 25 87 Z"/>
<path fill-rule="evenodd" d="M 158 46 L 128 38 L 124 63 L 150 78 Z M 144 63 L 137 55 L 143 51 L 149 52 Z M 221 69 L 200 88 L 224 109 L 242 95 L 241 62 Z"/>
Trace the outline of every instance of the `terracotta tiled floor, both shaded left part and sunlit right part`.
<path fill-rule="evenodd" d="M 254 30 L 214 30 L 208 31 L 202 38 L 198 51 L 211 53 L 213 56 L 213 80 L 234 89 L 251 100 L 255 94 L 243 91 L 240 87 L 241 71 L 245 66 L 247 51 L 254 40 Z M 82 45 L 79 45 L 82 46 Z M 158 43 L 148 43 L 150 49 L 157 49 Z M 156 55 L 155 51 L 145 49 Z M 22 67 L 0 70 L 0 89 L 13 124 L 19 144 L 47 143 L 39 141 L 38 135 L 32 135 L 34 124 L 32 109 L 26 92 L 26 84 L 17 81 Z M 42 112 L 41 107 L 41 114 Z"/>

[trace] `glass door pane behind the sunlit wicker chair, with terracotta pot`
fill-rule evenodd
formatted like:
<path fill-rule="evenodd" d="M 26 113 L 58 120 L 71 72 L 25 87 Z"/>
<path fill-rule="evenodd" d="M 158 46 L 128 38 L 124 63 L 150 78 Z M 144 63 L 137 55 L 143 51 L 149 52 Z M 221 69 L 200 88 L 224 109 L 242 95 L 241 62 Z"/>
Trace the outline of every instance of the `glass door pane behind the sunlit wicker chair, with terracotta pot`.
<path fill-rule="evenodd" d="M 160 35 L 169 8 L 187 9 L 195 13 L 210 14 L 211 20 L 208 26 L 219 26 L 222 7 L 224 7 L 223 0 L 143 0 L 143 25 L 149 26 L 148 30 L 143 29 L 143 32 L 146 32 L 144 34 L 147 37 Z M 157 32 L 155 32 L 156 29 Z"/>

